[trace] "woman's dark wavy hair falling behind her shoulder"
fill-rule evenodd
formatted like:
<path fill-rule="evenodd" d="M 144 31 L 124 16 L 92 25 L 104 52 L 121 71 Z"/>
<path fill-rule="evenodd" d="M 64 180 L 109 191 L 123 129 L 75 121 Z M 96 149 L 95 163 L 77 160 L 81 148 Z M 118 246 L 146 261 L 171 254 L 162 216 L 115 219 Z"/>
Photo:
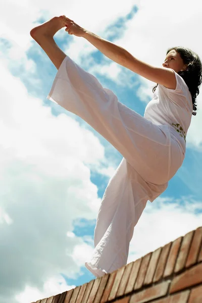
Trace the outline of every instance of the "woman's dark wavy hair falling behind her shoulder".
<path fill-rule="evenodd" d="M 167 50 L 166 55 L 174 49 L 177 53 L 179 53 L 180 57 L 183 60 L 183 63 L 187 65 L 185 70 L 181 70 L 178 72 L 191 93 L 193 111 L 196 111 L 196 96 L 199 94 L 199 87 L 202 82 L 202 64 L 200 58 L 196 53 L 191 51 L 189 48 L 185 48 L 182 46 L 170 47 Z M 153 87 L 153 92 L 155 92 L 158 84 Z M 196 112 L 192 112 L 192 115 L 196 115 Z"/>

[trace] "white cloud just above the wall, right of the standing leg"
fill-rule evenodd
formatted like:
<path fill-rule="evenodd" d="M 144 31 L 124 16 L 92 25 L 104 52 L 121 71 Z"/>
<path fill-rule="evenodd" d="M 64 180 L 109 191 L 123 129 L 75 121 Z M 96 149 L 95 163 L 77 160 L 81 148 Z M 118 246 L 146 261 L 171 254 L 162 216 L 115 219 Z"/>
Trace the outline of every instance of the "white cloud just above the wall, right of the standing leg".
<path fill-rule="evenodd" d="M 159 197 L 153 203 L 147 202 L 134 228 L 127 263 L 195 230 L 201 222 L 202 203 L 191 197 Z"/>

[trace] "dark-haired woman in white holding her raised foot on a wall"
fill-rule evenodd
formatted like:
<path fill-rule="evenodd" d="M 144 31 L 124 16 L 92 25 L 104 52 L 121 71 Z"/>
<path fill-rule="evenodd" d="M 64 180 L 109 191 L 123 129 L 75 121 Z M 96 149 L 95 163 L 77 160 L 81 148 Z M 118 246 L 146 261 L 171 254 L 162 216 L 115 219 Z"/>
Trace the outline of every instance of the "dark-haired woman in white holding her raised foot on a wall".
<path fill-rule="evenodd" d="M 158 83 L 144 117 L 121 104 L 111 90 L 61 51 L 53 37 L 63 27 L 116 63 Z M 123 156 L 104 193 L 94 231 L 95 248 L 85 263 L 100 277 L 127 263 L 134 226 L 147 200 L 153 202 L 182 165 L 201 84 L 201 62 L 189 49 L 175 47 L 168 50 L 163 67 L 148 65 L 65 16 L 33 28 L 30 34 L 58 69 L 48 98 L 84 119 Z"/>

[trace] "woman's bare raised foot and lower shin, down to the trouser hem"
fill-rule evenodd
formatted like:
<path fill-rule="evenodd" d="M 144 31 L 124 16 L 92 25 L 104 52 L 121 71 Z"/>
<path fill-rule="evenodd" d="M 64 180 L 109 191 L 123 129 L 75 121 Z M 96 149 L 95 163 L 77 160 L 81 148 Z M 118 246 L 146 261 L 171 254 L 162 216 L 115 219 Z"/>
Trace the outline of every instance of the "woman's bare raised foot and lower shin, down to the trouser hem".
<path fill-rule="evenodd" d="M 53 62 L 57 69 L 65 59 L 66 55 L 56 44 L 54 35 L 61 28 L 65 27 L 65 16 L 54 17 L 51 20 L 34 27 L 30 31 L 31 37 L 41 46 L 49 59 Z"/>

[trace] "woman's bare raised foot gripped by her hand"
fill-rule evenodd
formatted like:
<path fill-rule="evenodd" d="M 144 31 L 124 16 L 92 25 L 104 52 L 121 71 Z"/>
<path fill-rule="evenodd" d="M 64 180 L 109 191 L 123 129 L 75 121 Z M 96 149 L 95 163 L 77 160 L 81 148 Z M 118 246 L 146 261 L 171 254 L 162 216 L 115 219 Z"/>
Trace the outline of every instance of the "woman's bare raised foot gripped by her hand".
<path fill-rule="evenodd" d="M 44 36 L 53 38 L 57 31 L 66 26 L 65 21 L 65 16 L 54 17 L 51 20 L 32 28 L 30 35 L 36 42 L 39 42 Z"/>

